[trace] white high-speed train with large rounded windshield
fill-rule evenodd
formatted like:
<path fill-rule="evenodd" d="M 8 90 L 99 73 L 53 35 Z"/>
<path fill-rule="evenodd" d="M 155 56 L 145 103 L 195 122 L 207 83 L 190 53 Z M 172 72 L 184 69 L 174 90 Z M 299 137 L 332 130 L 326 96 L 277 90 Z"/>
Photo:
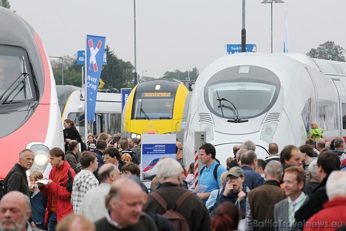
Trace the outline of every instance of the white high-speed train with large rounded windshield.
<path fill-rule="evenodd" d="M 194 132 L 206 131 L 222 165 L 232 147 L 301 145 L 317 121 L 327 140 L 346 137 L 346 63 L 303 54 L 238 53 L 211 63 L 198 77 L 189 105 L 183 159 L 194 162 Z"/>

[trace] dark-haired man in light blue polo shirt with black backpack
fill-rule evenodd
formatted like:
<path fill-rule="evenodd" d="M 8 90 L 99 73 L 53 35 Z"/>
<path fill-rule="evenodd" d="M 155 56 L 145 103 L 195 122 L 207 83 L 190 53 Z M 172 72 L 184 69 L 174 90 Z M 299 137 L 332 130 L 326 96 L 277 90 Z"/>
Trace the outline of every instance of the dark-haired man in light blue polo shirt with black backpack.
<path fill-rule="evenodd" d="M 226 172 L 225 167 L 220 165 L 215 160 L 216 150 L 213 144 L 205 143 L 199 148 L 199 158 L 206 166 L 202 167 L 199 172 L 198 185 L 205 185 L 207 188 L 202 193 L 197 193 L 197 196 L 207 201 L 211 191 L 222 187 L 221 174 Z M 215 170 L 216 169 L 216 170 Z"/>

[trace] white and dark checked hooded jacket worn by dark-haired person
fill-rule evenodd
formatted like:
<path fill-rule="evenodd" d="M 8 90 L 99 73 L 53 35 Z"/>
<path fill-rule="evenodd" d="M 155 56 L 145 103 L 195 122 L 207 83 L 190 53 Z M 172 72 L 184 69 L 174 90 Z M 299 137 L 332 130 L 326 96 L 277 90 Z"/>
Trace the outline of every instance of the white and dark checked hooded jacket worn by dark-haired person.
<path fill-rule="evenodd" d="M 75 176 L 71 198 L 73 212 L 75 214 L 79 213 L 82 201 L 87 191 L 89 191 L 92 188 L 98 187 L 98 185 L 98 180 L 88 170 L 82 170 L 79 174 Z"/>

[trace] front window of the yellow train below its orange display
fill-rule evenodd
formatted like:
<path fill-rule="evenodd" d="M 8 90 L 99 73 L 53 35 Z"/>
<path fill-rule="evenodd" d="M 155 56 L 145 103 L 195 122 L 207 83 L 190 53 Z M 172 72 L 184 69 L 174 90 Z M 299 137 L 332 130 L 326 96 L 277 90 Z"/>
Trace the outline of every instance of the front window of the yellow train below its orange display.
<path fill-rule="evenodd" d="M 172 119 L 173 98 L 141 98 L 135 103 L 136 119 Z"/>

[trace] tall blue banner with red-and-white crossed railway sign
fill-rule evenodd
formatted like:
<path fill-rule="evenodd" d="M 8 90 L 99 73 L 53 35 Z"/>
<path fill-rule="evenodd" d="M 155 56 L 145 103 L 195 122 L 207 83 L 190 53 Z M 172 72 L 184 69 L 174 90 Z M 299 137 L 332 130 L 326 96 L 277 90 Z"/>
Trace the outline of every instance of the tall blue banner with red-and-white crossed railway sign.
<path fill-rule="evenodd" d="M 95 121 L 95 106 L 106 37 L 87 35 L 87 120 Z"/>

